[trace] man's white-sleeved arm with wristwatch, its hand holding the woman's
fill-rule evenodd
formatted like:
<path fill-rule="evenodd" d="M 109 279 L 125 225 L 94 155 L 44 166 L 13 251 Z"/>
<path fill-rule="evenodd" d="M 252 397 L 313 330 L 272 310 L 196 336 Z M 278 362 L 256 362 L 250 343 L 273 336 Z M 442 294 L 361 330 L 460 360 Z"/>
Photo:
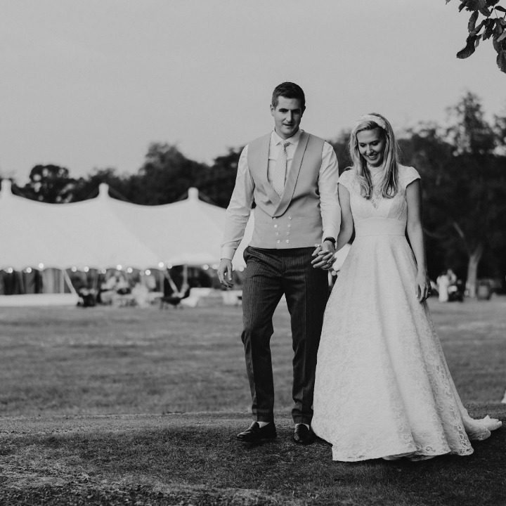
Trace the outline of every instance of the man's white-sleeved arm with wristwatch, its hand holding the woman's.
<path fill-rule="evenodd" d="M 321 249 L 315 251 L 313 267 L 329 268 L 334 263 L 335 244 L 325 238 L 336 239 L 341 223 L 341 208 L 337 195 L 339 170 L 334 148 L 329 143 L 323 144 L 322 164 L 318 174 L 318 191 L 320 193 L 320 212 L 323 223 Z"/>

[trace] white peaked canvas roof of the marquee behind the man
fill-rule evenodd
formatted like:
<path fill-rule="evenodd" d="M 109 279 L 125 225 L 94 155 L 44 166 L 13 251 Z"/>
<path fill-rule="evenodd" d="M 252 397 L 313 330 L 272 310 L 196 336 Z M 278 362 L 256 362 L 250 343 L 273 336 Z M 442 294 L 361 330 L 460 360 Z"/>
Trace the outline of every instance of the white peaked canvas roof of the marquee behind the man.
<path fill-rule="evenodd" d="M 199 200 L 196 188 L 181 202 L 143 206 L 110 198 L 101 184 L 94 199 L 55 205 L 13 195 L 4 179 L 0 268 L 212 266 L 219 263 L 224 224 L 225 209 Z M 251 221 L 234 268 L 245 266 L 242 250 L 252 226 Z"/>

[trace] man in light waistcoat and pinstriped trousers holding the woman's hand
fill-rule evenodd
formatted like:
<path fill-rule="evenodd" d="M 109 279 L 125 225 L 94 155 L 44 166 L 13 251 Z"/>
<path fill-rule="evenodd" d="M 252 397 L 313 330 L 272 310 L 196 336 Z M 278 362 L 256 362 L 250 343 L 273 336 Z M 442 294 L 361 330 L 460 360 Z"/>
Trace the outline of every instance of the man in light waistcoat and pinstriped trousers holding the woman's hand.
<path fill-rule="evenodd" d="M 242 150 L 226 212 L 218 275 L 222 285 L 231 287 L 232 259 L 255 204 L 253 238 L 244 252 L 242 342 L 256 421 L 238 434 L 240 441 L 277 435 L 269 342 L 283 294 L 292 320 L 294 441 L 313 441 L 316 354 L 328 292 L 324 269 L 332 265 L 340 209 L 332 146 L 299 129 L 305 103 L 297 84 L 275 88 L 274 130 Z"/>

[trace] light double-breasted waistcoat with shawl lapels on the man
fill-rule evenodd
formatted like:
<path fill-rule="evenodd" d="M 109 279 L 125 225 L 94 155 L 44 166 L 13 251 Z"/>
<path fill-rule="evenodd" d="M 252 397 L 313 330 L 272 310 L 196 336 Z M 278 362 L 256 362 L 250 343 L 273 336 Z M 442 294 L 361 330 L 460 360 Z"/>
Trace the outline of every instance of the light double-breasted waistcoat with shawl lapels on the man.
<path fill-rule="evenodd" d="M 302 132 L 281 197 L 267 179 L 271 134 L 248 145 L 254 181 L 254 231 L 250 246 L 268 249 L 313 247 L 323 234 L 318 194 L 323 139 Z"/>

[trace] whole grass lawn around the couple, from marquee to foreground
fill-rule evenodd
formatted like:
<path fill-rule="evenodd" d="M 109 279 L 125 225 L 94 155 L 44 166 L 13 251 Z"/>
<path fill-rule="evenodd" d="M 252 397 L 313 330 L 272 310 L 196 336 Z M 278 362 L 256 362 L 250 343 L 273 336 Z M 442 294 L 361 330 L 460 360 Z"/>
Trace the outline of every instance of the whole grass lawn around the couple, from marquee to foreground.
<path fill-rule="evenodd" d="M 430 306 L 462 401 L 505 422 L 506 299 Z M 424 462 L 294 445 L 285 309 L 279 436 L 257 445 L 234 438 L 250 402 L 239 308 L 0 309 L 0 325 L 0 505 L 506 504 L 504 427 Z"/>

